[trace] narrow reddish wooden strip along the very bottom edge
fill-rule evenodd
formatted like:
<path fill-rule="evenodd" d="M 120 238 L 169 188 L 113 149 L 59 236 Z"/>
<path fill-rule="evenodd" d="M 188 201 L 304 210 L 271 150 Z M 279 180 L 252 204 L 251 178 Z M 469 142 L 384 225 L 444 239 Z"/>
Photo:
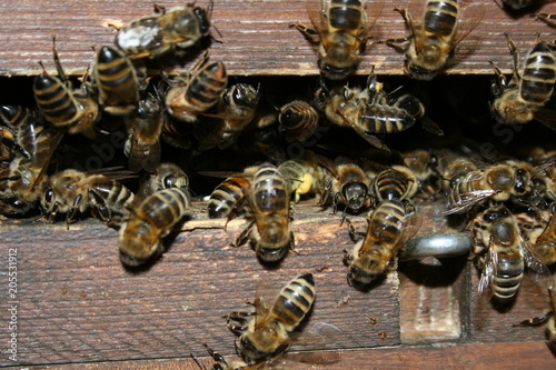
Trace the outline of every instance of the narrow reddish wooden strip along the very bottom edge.
<path fill-rule="evenodd" d="M 554 369 L 554 354 L 544 341 L 512 343 L 473 343 L 441 347 L 398 347 L 373 350 L 328 352 L 325 356 L 337 359 L 334 364 L 307 364 L 299 369 L 524 369 L 534 364 L 535 369 Z M 212 361 L 203 358 L 206 366 Z M 168 359 L 157 361 L 126 361 L 111 363 L 79 363 L 56 367 L 29 367 L 39 369 L 87 369 L 87 370 L 199 370 L 191 359 Z M 297 368 L 296 368 L 297 369 Z"/>

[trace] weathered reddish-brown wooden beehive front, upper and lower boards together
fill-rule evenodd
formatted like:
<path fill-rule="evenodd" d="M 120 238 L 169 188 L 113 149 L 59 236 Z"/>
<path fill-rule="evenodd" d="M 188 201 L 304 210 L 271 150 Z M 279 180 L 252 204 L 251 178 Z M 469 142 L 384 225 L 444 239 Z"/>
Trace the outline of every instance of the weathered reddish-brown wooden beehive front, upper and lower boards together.
<path fill-rule="evenodd" d="M 406 36 L 401 17 L 393 11 L 399 3 L 384 2 L 377 37 Z M 464 74 L 469 80 L 490 77 L 489 60 L 509 73 L 512 58 L 504 31 L 522 53 L 537 33 L 545 40 L 556 36 L 528 14 L 509 16 L 490 0 L 475 2 L 484 4 L 485 16 L 461 43 L 473 52 L 465 53 L 465 59 L 464 53 L 455 54 L 456 63 L 447 70 L 454 80 L 439 77 L 443 83 Z M 92 59 L 91 48 L 112 42 L 115 30 L 108 23 L 151 12 L 152 2 L 142 0 L 4 0 L 0 7 L 0 82 L 7 88 L 0 91 L 0 103 L 29 101 L 31 77 L 41 71 L 38 61 L 53 71 L 52 36 L 66 71 L 81 76 Z M 212 23 L 222 42 L 212 43 L 211 58 L 224 60 L 230 76 L 314 78 L 318 74 L 315 51 L 289 28 L 295 22 L 310 23 L 304 2 L 216 0 Z M 357 73 L 366 76 L 374 66 L 380 78 L 403 80 L 403 54 L 374 44 L 361 57 Z M 535 128 L 526 130 L 530 133 Z M 198 221 L 188 226 L 202 226 L 205 206 L 192 206 Z M 421 211 L 425 221 L 418 234 L 448 229 L 441 207 L 425 204 Z M 232 221 L 227 230 L 182 232 L 160 261 L 140 272 L 122 268 L 116 252 L 117 231 L 96 221 L 72 224 L 70 230 L 63 223 L 40 220 L 0 222 L 2 280 L 8 281 L 10 251 L 17 250 L 18 268 L 18 360 L 10 360 L 2 349 L 2 367 L 198 369 L 190 353 L 206 356 L 202 343 L 234 356 L 235 337 L 221 317 L 244 309 L 260 280 L 280 286 L 301 272 L 314 273 L 318 294 L 307 327 L 327 322 L 342 332 L 326 347 L 294 348 L 321 352 L 334 362 L 307 368 L 517 368 L 533 361 L 537 369 L 554 367 L 542 328 L 513 327 L 548 308 L 546 291 L 532 279 L 524 280 L 508 312 L 477 297 L 477 271 L 465 257 L 440 264 L 403 263 L 399 273 L 389 274 L 373 289 L 353 289 L 341 263 L 342 250 L 353 246 L 348 231 L 339 227 L 337 216 L 312 203 L 296 208 L 297 253 L 287 256 L 277 269 L 261 266 L 247 247 L 229 247 L 242 230 L 242 220 Z M 13 301 L 7 283 L 0 297 L 6 304 Z M 1 318 L 0 334 L 8 338 L 7 309 Z M 2 343 L 8 346 L 7 340 Z M 203 359 L 207 364 L 210 361 Z"/>

